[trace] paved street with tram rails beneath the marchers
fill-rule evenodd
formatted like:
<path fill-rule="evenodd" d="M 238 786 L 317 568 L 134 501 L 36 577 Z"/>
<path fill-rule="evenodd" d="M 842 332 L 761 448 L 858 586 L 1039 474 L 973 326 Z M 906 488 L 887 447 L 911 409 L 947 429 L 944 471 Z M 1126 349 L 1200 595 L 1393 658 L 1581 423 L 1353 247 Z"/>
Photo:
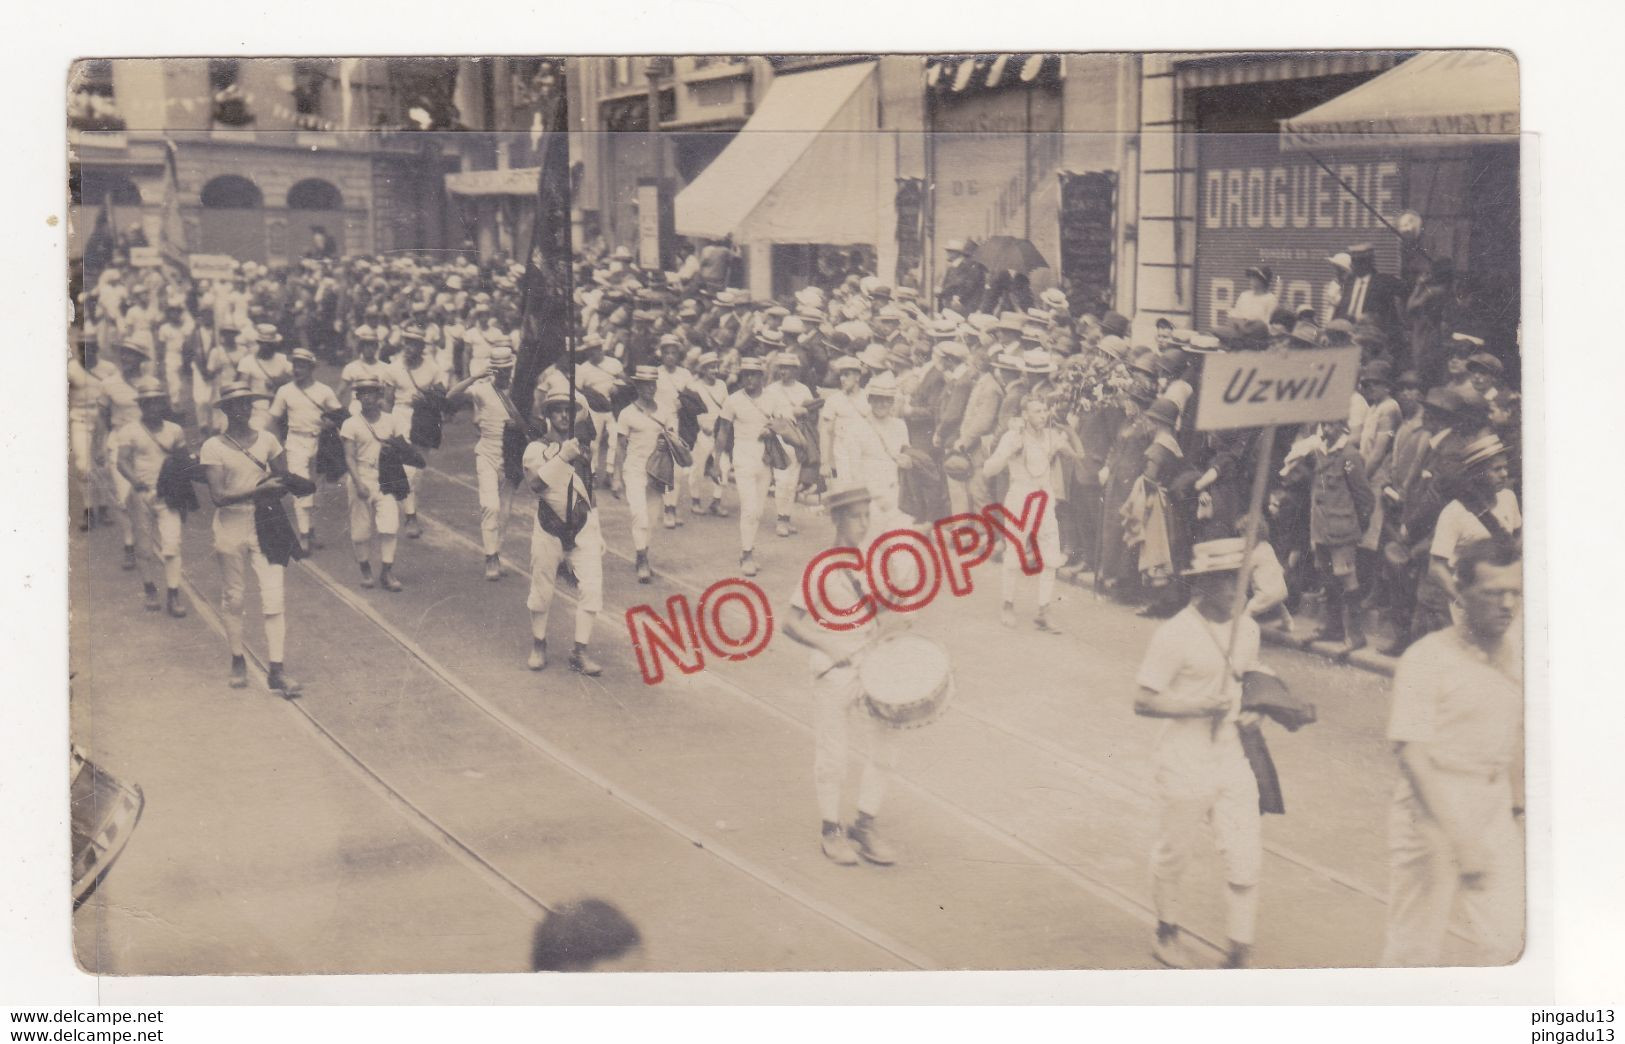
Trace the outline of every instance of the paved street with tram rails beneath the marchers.
<path fill-rule="evenodd" d="M 148 795 L 76 916 L 83 964 L 520 971 L 549 906 L 603 896 L 645 938 L 614 964 L 626 969 L 1150 966 L 1155 725 L 1131 712 L 1150 621 L 1068 589 L 1064 634 L 1004 631 L 991 564 L 975 594 L 920 613 L 915 626 L 954 650 L 957 696 L 902 737 L 884 820 L 905 859 L 835 867 L 817 849 L 801 647 L 780 634 L 744 663 L 660 686 L 637 676 L 622 613 L 733 576 L 736 520 L 684 511 L 682 529 L 656 527 L 660 576 L 645 587 L 626 507 L 604 494 L 604 676 L 562 663 L 535 675 L 528 506 L 509 532 L 509 577 L 486 582 L 471 437 L 465 415 L 431 462 L 427 532 L 401 540 L 401 594 L 359 587 L 344 494 L 323 488 L 328 546 L 288 576 L 289 670 L 307 683 L 294 703 L 258 680 L 224 685 L 205 517 L 185 532 L 197 605 L 184 621 L 141 611 L 110 530 L 75 537 L 75 737 Z M 798 511 L 800 535 L 759 540 L 757 582 L 775 607 L 827 538 L 827 522 Z M 570 628 L 556 611 L 552 650 L 569 649 Z M 1266 820 L 1258 958 L 1368 964 L 1394 782 L 1386 681 L 1294 650 L 1266 657 L 1321 720 L 1271 735 L 1289 815 Z M 1193 927 L 1214 942 L 1219 888 L 1204 859 Z"/>

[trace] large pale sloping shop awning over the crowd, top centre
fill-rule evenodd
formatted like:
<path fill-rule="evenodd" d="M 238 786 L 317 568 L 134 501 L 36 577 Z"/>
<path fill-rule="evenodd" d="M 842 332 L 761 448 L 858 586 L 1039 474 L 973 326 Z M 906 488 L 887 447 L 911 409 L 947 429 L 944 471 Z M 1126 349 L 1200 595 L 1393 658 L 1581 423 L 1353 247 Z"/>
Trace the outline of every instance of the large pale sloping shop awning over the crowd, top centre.
<path fill-rule="evenodd" d="M 678 234 L 874 242 L 874 62 L 775 76 L 728 148 L 678 194 Z"/>

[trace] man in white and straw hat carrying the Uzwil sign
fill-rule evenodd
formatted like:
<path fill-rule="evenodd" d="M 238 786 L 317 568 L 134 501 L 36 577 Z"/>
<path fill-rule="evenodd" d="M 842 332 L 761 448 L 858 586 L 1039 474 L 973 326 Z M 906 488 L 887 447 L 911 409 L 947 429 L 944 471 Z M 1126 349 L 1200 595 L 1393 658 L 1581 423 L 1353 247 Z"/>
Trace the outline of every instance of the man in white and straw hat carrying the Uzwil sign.
<path fill-rule="evenodd" d="M 1242 538 L 1191 548 L 1191 603 L 1162 621 L 1139 667 L 1134 712 L 1165 719 L 1157 737 L 1157 844 L 1150 854 L 1150 899 L 1157 911 L 1152 955 L 1168 968 L 1194 968 L 1181 933 L 1181 886 L 1191 852 L 1212 824 L 1225 872 L 1225 968 L 1246 968 L 1258 920 L 1263 834 L 1258 779 L 1242 750 L 1242 678 L 1258 668 L 1258 623 L 1235 613 Z M 1235 629 L 1232 652 L 1230 634 Z"/>

